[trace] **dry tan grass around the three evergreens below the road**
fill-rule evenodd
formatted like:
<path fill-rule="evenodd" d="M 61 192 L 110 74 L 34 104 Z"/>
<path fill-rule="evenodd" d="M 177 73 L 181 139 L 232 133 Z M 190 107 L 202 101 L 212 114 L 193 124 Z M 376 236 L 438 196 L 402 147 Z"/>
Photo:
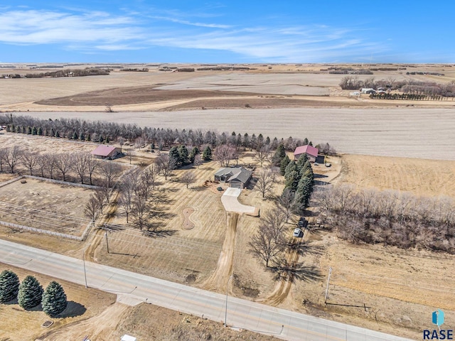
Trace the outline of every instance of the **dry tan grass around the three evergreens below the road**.
<path fill-rule="evenodd" d="M 63 286 L 68 298 L 68 308 L 63 311 L 62 318 L 49 318 L 41 310 L 41 305 L 38 308 L 33 308 L 31 311 L 25 311 L 19 307 L 17 303 L 0 306 L 0 335 L 1 340 L 15 341 L 30 341 L 36 340 L 48 332 L 63 328 L 65 325 L 73 325 L 81 320 L 92 318 L 100 314 L 107 306 L 115 302 L 115 295 L 105 293 L 92 288 L 84 288 L 77 286 L 74 283 L 61 281 L 41 274 L 33 274 L 30 271 L 1 264 L 3 269 L 14 271 L 19 279 L 23 279 L 28 275 L 35 276 L 40 281 L 43 288 L 50 281 L 56 280 Z M 2 271 L 3 271 L 2 269 Z M 48 329 L 41 327 L 45 320 L 52 320 L 54 324 Z M 85 334 L 86 335 L 86 334 Z M 56 340 L 56 339 L 45 339 Z M 63 339 L 60 339 L 63 340 Z M 81 338 L 82 340 L 82 338 Z"/>

